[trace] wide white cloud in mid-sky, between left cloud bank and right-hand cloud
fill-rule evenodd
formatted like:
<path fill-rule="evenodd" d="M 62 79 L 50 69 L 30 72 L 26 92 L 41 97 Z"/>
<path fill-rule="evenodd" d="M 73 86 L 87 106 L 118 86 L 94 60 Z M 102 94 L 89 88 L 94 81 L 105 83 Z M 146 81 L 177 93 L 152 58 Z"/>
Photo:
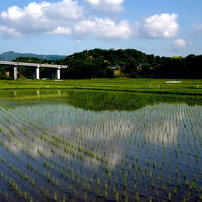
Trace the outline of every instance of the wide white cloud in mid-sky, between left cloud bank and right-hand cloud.
<path fill-rule="evenodd" d="M 76 34 L 93 34 L 96 38 L 103 40 L 128 39 L 132 30 L 128 21 L 123 20 L 116 24 L 109 18 L 95 18 L 94 20 L 83 20 L 75 26 Z"/>

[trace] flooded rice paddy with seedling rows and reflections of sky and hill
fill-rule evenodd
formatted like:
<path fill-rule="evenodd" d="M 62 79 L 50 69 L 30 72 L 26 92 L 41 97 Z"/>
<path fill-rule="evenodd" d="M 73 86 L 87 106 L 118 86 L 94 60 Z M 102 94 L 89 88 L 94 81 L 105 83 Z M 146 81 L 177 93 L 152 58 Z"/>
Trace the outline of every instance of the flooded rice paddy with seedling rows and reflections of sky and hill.
<path fill-rule="evenodd" d="M 202 99 L 0 92 L 0 201 L 202 200 Z"/>

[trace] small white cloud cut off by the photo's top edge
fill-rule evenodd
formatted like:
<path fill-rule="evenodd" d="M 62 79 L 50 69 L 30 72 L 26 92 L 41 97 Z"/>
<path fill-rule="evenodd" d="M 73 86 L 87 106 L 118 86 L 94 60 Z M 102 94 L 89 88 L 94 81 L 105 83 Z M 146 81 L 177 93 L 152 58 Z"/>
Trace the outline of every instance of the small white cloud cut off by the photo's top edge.
<path fill-rule="evenodd" d="M 104 13 L 123 11 L 124 0 L 86 0 L 91 8 Z"/>

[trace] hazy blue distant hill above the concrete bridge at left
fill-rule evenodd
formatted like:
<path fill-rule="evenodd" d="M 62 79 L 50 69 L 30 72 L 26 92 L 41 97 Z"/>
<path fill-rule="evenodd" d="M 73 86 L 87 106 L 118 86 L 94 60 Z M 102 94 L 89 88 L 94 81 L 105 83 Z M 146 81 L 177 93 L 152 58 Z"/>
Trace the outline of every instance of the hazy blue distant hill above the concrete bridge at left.
<path fill-rule="evenodd" d="M 3 61 L 12 61 L 15 60 L 18 57 L 34 57 L 34 58 L 39 58 L 39 59 L 46 59 L 46 60 L 60 60 L 64 59 L 67 56 L 65 55 L 37 55 L 33 53 L 16 53 L 14 51 L 8 51 L 5 53 L 0 54 L 0 60 Z"/>

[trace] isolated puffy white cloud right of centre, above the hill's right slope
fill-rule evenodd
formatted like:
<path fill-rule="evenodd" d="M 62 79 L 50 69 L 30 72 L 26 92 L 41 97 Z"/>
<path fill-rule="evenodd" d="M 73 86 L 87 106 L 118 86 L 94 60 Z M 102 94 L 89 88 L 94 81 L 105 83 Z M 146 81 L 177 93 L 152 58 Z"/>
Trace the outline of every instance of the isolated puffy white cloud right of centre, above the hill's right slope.
<path fill-rule="evenodd" d="M 172 38 L 178 33 L 177 14 L 153 15 L 140 25 L 140 36 L 147 38 Z"/>

